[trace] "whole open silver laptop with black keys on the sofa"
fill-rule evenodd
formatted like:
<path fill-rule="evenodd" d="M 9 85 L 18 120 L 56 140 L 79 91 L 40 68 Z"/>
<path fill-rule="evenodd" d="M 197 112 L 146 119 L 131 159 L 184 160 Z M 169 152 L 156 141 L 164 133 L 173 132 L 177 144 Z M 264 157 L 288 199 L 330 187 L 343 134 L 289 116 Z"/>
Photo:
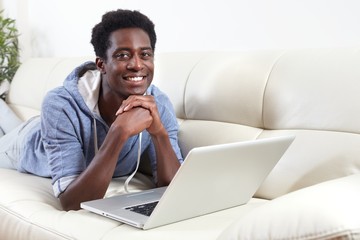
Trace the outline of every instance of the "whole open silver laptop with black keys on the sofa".
<path fill-rule="evenodd" d="M 169 186 L 87 201 L 81 208 L 151 229 L 239 206 L 252 198 L 293 140 L 282 136 L 197 147 Z"/>

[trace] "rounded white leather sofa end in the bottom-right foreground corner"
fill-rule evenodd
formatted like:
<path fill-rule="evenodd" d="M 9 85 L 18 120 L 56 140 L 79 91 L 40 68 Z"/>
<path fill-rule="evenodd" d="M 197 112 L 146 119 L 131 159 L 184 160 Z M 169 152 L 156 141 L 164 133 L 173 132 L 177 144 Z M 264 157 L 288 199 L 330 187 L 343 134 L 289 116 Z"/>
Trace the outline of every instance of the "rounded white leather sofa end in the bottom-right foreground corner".
<path fill-rule="evenodd" d="M 360 174 L 274 199 L 235 221 L 222 239 L 359 239 Z"/>

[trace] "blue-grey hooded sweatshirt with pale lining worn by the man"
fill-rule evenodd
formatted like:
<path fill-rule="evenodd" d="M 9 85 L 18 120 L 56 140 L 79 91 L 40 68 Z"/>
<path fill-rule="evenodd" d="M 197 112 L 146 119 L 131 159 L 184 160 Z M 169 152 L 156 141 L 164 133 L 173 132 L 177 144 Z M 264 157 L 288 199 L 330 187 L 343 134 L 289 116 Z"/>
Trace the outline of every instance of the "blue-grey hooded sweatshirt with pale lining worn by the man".
<path fill-rule="evenodd" d="M 55 196 L 90 164 L 103 143 L 109 126 L 101 118 L 97 100 L 101 78 L 93 62 L 72 71 L 63 86 L 47 93 L 39 124 L 29 130 L 20 156 L 19 171 L 51 177 Z M 147 94 L 155 97 L 159 114 L 168 131 L 173 149 L 182 163 L 178 146 L 178 124 L 169 98 L 151 85 Z M 124 145 L 113 176 L 129 175 L 137 163 L 139 137 Z M 142 153 L 148 154 L 156 181 L 155 148 L 147 131 L 143 131 Z"/>

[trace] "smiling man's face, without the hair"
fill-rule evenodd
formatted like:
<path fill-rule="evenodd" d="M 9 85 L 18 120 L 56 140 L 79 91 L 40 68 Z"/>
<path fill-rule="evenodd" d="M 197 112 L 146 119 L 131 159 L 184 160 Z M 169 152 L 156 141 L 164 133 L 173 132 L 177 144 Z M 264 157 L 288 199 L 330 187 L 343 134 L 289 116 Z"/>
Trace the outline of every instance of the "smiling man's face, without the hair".
<path fill-rule="evenodd" d="M 112 32 L 109 40 L 111 45 L 103 65 L 103 80 L 108 89 L 104 90 L 123 99 L 144 94 L 154 75 L 149 36 L 140 28 L 126 28 Z"/>

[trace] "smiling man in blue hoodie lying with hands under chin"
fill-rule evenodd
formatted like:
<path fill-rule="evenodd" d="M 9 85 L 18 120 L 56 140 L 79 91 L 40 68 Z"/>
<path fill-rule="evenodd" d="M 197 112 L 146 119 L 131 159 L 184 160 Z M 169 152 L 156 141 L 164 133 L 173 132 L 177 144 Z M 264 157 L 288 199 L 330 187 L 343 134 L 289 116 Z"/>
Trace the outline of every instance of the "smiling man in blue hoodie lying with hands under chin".
<path fill-rule="evenodd" d="M 168 97 L 151 85 L 156 33 L 138 11 L 103 15 L 92 30 L 96 61 L 46 95 L 41 116 L 0 138 L 0 166 L 51 177 L 64 210 L 99 199 L 112 177 L 130 175 L 139 152 L 168 185 L 183 159 Z"/>

